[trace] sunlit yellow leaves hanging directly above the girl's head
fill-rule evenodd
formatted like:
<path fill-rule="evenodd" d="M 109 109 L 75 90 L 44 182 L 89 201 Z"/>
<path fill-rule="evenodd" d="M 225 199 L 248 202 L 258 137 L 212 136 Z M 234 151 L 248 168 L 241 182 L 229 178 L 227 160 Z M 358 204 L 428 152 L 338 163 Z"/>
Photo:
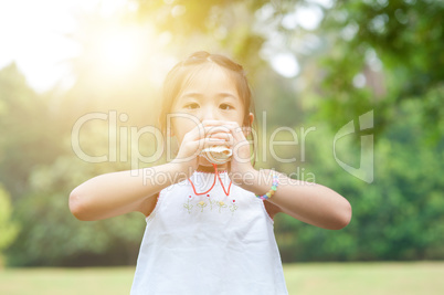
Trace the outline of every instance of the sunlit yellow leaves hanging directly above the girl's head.
<path fill-rule="evenodd" d="M 254 33 L 254 13 L 251 12 L 268 1 L 138 2 L 139 18 L 155 22 L 160 32 L 170 32 L 175 44 L 180 44 L 182 50 L 193 35 L 211 35 L 221 44 L 220 49 L 242 64 L 251 65 L 249 69 L 257 69 L 257 52 L 265 40 Z"/>

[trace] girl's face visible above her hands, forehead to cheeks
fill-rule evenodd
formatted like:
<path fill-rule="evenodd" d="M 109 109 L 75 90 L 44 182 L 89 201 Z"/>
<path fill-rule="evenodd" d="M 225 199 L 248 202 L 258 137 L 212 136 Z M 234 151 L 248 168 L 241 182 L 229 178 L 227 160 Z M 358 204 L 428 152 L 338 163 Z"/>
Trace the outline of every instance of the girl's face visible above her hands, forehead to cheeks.
<path fill-rule="evenodd" d="M 242 126 L 245 108 L 235 83 L 225 70 L 209 64 L 181 89 L 171 113 L 175 114 L 171 135 L 177 137 L 180 145 L 184 135 L 197 126 L 197 120 L 235 122 Z M 179 114 L 186 115 L 181 117 Z M 250 113 L 252 120 L 253 114 Z"/>

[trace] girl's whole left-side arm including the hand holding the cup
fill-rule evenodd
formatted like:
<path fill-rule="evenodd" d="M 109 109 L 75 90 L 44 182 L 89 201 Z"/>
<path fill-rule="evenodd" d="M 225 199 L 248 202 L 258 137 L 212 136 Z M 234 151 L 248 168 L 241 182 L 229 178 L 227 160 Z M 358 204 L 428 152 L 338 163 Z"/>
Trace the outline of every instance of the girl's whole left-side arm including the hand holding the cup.
<path fill-rule="evenodd" d="M 215 120 L 205 120 L 187 133 L 181 140 L 177 158 L 166 165 L 133 171 L 107 173 L 95 177 L 70 196 L 71 212 L 80 220 L 99 220 L 140 211 L 151 212 L 155 196 L 171 185 L 188 179 L 198 168 L 197 155 L 202 148 L 224 145 L 229 135 L 220 133 Z M 211 130 L 214 138 L 205 138 Z M 218 133 L 219 131 L 219 133 Z"/>

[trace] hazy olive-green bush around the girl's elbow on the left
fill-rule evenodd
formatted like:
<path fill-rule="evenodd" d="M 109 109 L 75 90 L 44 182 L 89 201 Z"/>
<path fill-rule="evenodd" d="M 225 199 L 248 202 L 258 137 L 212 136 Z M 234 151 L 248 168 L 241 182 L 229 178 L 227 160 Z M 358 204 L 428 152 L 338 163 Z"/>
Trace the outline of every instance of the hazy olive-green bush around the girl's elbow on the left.
<path fill-rule="evenodd" d="M 144 218 L 136 213 L 81 222 L 70 212 L 71 190 L 117 165 L 61 156 L 33 169 L 29 192 L 17 202 L 23 230 L 8 251 L 12 265 L 125 265 L 136 262 Z"/>

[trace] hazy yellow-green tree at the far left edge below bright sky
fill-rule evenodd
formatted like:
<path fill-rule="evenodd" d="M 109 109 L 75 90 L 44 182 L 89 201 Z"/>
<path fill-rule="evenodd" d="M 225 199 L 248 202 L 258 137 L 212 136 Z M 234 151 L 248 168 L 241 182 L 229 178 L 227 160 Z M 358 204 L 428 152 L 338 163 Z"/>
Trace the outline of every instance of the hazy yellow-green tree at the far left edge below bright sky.
<path fill-rule="evenodd" d="M 31 169 L 60 154 L 49 106 L 14 63 L 0 71 L 0 181 L 14 200 L 25 191 Z"/>

